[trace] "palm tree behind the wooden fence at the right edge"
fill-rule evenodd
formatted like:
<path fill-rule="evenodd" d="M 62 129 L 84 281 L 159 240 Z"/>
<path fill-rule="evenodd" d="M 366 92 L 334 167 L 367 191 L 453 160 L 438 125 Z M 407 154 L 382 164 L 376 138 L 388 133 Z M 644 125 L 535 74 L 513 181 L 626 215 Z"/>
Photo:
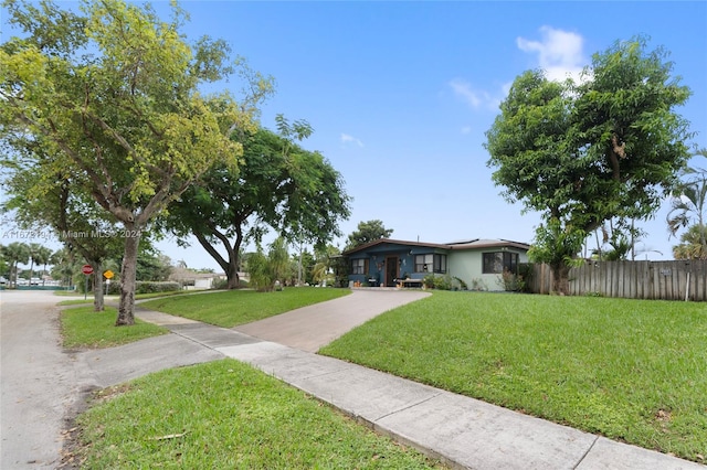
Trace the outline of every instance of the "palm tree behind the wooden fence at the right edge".
<path fill-rule="evenodd" d="M 701 149 L 695 156 L 707 158 L 707 149 Z M 673 202 L 667 215 L 667 226 L 671 236 L 678 229 L 695 223 L 698 227 L 707 224 L 707 170 L 701 168 L 685 167 L 682 180 L 673 190 Z M 697 229 L 699 245 L 707 249 L 707 235 L 705 229 Z"/>

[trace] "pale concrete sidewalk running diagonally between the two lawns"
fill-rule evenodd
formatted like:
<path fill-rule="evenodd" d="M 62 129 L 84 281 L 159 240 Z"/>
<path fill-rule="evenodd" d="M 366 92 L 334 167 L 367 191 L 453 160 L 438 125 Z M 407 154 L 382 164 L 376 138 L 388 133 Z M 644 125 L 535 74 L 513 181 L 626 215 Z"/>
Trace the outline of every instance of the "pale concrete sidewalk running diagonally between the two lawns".
<path fill-rule="evenodd" d="M 246 362 L 455 468 L 705 469 L 243 332 L 140 309 L 136 314 L 191 342 L 202 351 L 201 360 L 229 356 Z M 168 341 L 165 337 L 155 340 Z M 109 361 L 106 352 L 103 356 Z M 106 382 L 119 375 L 114 371 Z"/>

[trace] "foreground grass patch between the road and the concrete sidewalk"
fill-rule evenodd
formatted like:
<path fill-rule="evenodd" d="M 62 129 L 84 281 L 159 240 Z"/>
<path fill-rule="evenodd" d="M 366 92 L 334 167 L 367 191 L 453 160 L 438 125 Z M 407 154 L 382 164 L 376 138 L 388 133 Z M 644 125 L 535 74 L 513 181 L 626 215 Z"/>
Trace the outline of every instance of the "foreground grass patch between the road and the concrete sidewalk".
<path fill-rule="evenodd" d="M 78 426 L 84 469 L 442 468 L 234 360 L 105 389 Z"/>

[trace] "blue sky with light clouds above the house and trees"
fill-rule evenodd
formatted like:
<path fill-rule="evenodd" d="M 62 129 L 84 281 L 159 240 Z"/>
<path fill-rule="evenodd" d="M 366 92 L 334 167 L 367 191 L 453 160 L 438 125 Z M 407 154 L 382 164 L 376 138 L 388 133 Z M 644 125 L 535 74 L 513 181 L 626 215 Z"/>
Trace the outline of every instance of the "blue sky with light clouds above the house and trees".
<path fill-rule="evenodd" d="M 72 2 L 63 2 L 68 4 Z M 154 3 L 159 12 L 167 2 Z M 351 196 L 346 236 L 380 220 L 391 238 L 446 243 L 504 238 L 531 243 L 540 214 L 524 213 L 492 181 L 485 132 L 513 81 L 544 68 L 576 76 L 616 41 L 642 34 L 671 53 L 673 74 L 693 95 L 677 109 L 707 147 L 705 1 L 186 1 L 188 39 L 225 40 L 234 54 L 275 79 L 262 126 L 303 119 L 302 146 L 341 173 Z M 236 81 L 224 84 L 236 96 Z M 703 159 L 704 160 L 704 159 Z M 707 161 L 695 161 L 703 168 Z M 639 227 L 636 259 L 672 259 L 669 201 Z M 0 236 L 3 234 L 0 233 Z M 12 242 L 8 237 L 0 243 Z M 27 242 L 27 241 L 24 241 Z M 590 249 L 595 245 L 590 244 Z M 199 246 L 158 244 L 175 263 L 219 270 Z"/>

